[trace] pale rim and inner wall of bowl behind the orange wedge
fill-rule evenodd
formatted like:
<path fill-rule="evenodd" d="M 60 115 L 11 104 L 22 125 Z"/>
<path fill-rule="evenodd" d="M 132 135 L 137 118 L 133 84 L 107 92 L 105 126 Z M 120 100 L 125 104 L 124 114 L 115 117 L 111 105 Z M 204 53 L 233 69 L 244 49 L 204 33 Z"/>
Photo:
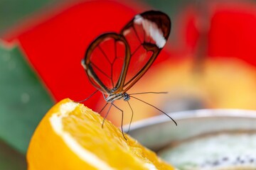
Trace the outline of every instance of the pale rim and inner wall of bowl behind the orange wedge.
<path fill-rule="evenodd" d="M 242 109 L 201 109 L 169 113 L 126 125 L 123 129 L 145 147 L 158 151 L 171 142 L 186 140 L 201 134 L 256 130 L 256 111 Z"/>

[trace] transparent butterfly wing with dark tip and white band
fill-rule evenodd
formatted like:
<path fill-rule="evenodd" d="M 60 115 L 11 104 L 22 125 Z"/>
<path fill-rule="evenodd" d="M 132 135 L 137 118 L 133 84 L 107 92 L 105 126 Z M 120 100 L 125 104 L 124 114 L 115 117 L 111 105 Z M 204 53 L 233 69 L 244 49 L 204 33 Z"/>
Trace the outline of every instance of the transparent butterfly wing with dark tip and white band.
<path fill-rule="evenodd" d="M 171 31 L 169 16 L 160 11 L 146 11 L 135 16 L 121 30 L 131 55 L 123 91 L 129 90 L 149 69 L 166 44 Z"/>

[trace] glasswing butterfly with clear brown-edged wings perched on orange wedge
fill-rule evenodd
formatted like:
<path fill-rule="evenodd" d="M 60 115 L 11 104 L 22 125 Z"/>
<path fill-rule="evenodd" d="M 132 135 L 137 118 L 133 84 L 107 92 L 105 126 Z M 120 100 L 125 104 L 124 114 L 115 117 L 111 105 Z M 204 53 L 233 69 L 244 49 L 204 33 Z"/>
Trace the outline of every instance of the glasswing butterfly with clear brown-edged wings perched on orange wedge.
<path fill-rule="evenodd" d="M 161 11 L 146 11 L 134 16 L 120 33 L 104 33 L 89 45 L 82 60 L 82 66 L 91 84 L 97 91 L 102 92 L 107 101 L 102 110 L 108 103 L 117 108 L 114 105 L 117 99 L 123 98 L 129 103 L 130 97 L 135 98 L 131 96 L 132 94 L 127 94 L 127 91 L 142 78 L 156 60 L 166 44 L 170 30 L 169 16 Z M 139 98 L 136 99 L 142 101 Z M 129 107 L 131 108 L 130 105 Z M 159 108 L 156 109 L 159 110 Z M 119 111 L 122 110 L 119 109 Z M 164 113 L 164 111 L 161 112 Z M 176 123 L 175 120 L 173 121 Z"/>

